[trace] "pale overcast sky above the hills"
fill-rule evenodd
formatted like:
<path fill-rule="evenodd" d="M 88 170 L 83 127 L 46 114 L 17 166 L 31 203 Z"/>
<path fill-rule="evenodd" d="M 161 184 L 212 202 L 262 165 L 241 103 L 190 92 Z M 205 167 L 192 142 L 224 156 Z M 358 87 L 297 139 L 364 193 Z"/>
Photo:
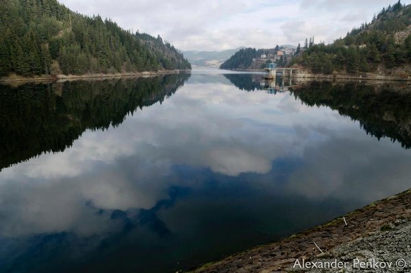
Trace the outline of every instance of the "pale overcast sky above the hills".
<path fill-rule="evenodd" d="M 297 45 L 309 36 L 329 43 L 396 0 L 59 1 L 134 32 L 160 34 L 178 49 L 221 50 Z"/>

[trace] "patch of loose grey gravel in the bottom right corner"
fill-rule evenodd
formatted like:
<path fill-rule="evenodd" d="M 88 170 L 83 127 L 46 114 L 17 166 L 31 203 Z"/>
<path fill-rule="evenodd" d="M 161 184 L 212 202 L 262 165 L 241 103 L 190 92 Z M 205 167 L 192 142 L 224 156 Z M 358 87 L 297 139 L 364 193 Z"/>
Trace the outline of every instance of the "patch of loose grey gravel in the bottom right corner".
<path fill-rule="evenodd" d="M 323 257 L 320 255 L 312 261 L 316 268 L 307 272 L 410 272 L 410 235 L 410 219 L 397 219 L 369 237 L 338 246 Z M 320 268 L 328 264 L 332 266 Z"/>

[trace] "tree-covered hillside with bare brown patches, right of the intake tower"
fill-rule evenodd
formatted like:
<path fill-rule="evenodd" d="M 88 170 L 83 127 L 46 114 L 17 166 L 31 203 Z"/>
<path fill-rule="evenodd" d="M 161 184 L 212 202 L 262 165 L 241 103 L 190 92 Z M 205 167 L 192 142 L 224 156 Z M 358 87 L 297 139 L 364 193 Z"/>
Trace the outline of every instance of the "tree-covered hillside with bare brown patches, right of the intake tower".
<path fill-rule="evenodd" d="M 411 5 L 400 1 L 383 8 L 371 23 L 364 23 L 331 45 L 310 45 L 290 65 L 301 64 L 313 73 L 392 73 L 411 63 Z M 406 75 L 407 70 L 404 70 Z M 401 73 L 401 71 L 400 71 Z"/>

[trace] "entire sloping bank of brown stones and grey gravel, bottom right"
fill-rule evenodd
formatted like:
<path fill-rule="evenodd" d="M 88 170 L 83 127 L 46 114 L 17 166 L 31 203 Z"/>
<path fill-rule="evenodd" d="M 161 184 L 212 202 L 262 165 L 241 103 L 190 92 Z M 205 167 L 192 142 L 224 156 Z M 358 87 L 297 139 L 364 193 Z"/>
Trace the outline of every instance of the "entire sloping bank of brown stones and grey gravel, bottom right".
<path fill-rule="evenodd" d="M 192 272 L 410 272 L 410 235 L 411 189 L 298 235 L 208 263 Z M 326 261 L 345 266 L 318 268 L 320 264 L 327 265 Z M 354 261 L 358 264 L 353 264 Z M 397 261 L 405 266 L 397 265 Z M 362 263 L 375 266 L 373 262 L 384 262 L 386 268 L 360 268 Z M 317 267 L 299 266 L 302 263 Z"/>

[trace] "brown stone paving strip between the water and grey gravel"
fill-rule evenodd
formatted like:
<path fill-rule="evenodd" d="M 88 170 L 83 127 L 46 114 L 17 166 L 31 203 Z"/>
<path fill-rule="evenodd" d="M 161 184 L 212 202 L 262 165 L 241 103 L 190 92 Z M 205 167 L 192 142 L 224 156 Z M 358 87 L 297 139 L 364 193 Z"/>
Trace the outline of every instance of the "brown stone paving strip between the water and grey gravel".
<path fill-rule="evenodd" d="M 410 219 L 411 189 L 408 189 L 297 235 L 206 263 L 190 272 L 292 272 L 297 259 L 314 261 L 332 257 L 330 253 L 333 250 L 349 248 L 354 242 L 372 236 L 390 235 L 396 222 Z M 316 248 L 314 242 L 324 253 Z"/>

